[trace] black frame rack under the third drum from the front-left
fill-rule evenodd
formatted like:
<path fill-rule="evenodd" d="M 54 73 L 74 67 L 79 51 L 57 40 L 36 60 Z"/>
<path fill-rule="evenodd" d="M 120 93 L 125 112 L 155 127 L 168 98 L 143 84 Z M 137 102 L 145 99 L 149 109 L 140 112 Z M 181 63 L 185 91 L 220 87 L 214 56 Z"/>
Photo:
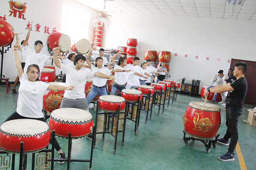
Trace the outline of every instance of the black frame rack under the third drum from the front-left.
<path fill-rule="evenodd" d="M 125 103 L 125 111 L 127 110 L 127 103 Z M 113 136 L 113 138 L 115 139 L 115 142 L 114 142 L 114 150 L 113 150 L 113 153 L 115 154 L 116 153 L 116 144 L 117 144 L 117 134 L 118 132 L 122 132 L 122 143 L 121 145 L 123 146 L 124 145 L 124 142 L 125 142 L 125 125 L 126 125 L 126 118 L 124 119 L 124 127 L 123 127 L 123 130 L 118 130 L 118 126 L 119 126 L 119 116 L 120 116 L 120 113 L 124 113 L 126 115 L 125 112 L 120 112 L 120 105 L 118 105 L 118 109 L 117 111 L 104 111 L 104 112 L 99 112 L 99 101 L 97 101 L 97 106 L 96 106 L 96 118 L 95 118 L 95 129 L 97 130 L 97 122 L 98 122 L 98 115 L 101 115 L 101 114 L 104 114 L 104 128 L 103 128 L 103 132 L 95 132 L 94 133 L 94 144 L 93 144 L 93 147 L 95 148 L 96 146 L 96 134 L 102 134 L 102 141 L 104 142 L 105 140 L 105 133 L 109 133 L 111 134 L 111 136 Z M 109 114 L 112 114 L 112 127 L 111 127 L 111 130 L 109 130 L 109 123 L 110 123 L 110 116 L 108 116 Z M 114 117 L 116 118 L 116 132 L 115 132 L 115 135 L 113 135 L 113 124 L 114 124 Z M 107 123 L 108 121 L 108 123 Z M 108 125 L 108 127 L 107 127 Z"/>

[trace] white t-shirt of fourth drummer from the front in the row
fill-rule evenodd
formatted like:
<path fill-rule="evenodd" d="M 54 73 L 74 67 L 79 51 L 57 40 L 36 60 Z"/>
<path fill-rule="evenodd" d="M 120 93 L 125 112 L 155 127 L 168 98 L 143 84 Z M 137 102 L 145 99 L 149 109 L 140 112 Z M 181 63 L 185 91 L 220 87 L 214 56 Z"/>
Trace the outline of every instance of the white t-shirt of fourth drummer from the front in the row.
<path fill-rule="evenodd" d="M 114 69 L 129 70 L 126 67 L 122 68 L 120 65 L 115 65 Z M 130 72 L 115 72 L 115 83 L 118 85 L 124 85 L 127 83 L 129 76 L 133 75 L 134 71 Z"/>

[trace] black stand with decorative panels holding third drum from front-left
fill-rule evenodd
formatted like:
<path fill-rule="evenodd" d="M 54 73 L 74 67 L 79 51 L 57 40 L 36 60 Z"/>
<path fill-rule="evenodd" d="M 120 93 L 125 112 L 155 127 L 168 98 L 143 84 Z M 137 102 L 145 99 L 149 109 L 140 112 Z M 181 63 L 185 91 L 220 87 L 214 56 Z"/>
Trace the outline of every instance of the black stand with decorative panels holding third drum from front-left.
<path fill-rule="evenodd" d="M 127 110 L 127 103 L 125 104 L 125 111 Z M 111 130 L 109 129 L 109 125 L 110 125 L 110 117 L 112 114 L 112 127 Z M 122 130 L 118 130 L 119 127 L 119 117 L 120 114 L 124 115 L 124 124 L 123 124 L 123 129 Z M 102 131 L 99 130 L 99 125 L 98 124 L 98 116 L 100 115 L 104 115 L 104 125 L 102 128 Z M 105 133 L 109 133 L 111 134 L 111 136 L 114 137 L 115 142 L 114 142 L 114 150 L 113 153 L 116 153 L 116 143 L 117 143 L 117 134 L 118 132 L 122 132 L 122 146 L 124 145 L 125 142 L 125 124 L 126 124 L 126 119 L 125 119 L 125 112 L 120 112 L 120 105 L 118 106 L 118 109 L 116 112 L 99 112 L 99 101 L 97 101 L 97 107 L 96 107 L 96 119 L 95 119 L 95 128 L 96 128 L 96 133 L 94 133 L 94 144 L 93 147 L 95 147 L 96 145 L 96 134 L 102 134 L 102 141 L 105 140 Z M 107 126 L 108 125 L 108 126 Z M 98 126 L 98 128 L 97 128 Z"/>

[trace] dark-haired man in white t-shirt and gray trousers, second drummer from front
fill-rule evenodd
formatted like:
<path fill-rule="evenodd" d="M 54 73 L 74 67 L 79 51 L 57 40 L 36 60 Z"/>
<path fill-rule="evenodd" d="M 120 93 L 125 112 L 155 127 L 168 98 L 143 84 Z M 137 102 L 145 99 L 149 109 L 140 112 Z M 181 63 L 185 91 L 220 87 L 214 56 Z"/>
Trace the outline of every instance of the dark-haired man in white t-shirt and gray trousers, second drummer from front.
<path fill-rule="evenodd" d="M 65 91 L 60 108 L 79 108 L 89 111 L 84 88 L 87 78 L 100 77 L 111 79 L 106 74 L 95 72 L 89 68 L 84 68 L 85 57 L 81 54 L 76 55 L 74 65 L 64 65 L 57 58 L 58 47 L 53 48 L 54 63 L 66 74 L 66 85 L 75 85 L 73 91 Z"/>

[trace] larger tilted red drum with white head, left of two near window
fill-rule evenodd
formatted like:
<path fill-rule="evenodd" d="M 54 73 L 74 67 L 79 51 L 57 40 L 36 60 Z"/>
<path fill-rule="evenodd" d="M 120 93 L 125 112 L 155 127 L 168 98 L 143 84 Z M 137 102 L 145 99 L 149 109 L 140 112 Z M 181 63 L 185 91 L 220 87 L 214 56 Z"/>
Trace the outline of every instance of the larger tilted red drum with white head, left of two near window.
<path fill-rule="evenodd" d="M 61 48 L 60 50 L 64 53 L 67 52 L 71 46 L 70 37 L 66 34 L 61 34 L 60 32 L 54 32 L 50 34 L 47 42 L 50 50 L 55 47 L 63 46 L 63 48 Z"/>

